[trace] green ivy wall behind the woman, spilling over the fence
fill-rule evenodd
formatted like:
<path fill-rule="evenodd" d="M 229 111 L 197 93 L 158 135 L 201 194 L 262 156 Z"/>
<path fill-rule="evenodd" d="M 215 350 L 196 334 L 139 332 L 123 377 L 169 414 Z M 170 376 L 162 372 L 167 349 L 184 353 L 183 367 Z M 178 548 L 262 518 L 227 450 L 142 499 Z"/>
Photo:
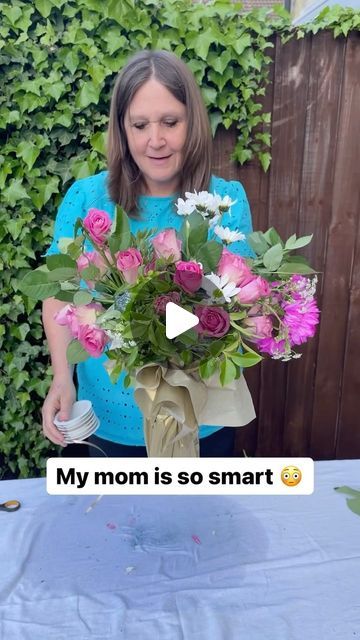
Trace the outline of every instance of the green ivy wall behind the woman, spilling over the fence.
<path fill-rule="evenodd" d="M 261 97 L 274 35 L 285 41 L 319 29 L 332 29 L 335 37 L 359 29 L 359 12 L 349 9 L 325 9 L 314 23 L 292 30 L 280 7 L 273 15 L 266 9 L 241 13 L 240 7 L 221 0 L 0 0 L 3 474 L 43 473 L 54 451 L 40 436 L 50 382 L 40 307 L 24 301 L 18 283 L 25 270 L 38 266 L 70 182 L 105 168 L 110 95 L 129 55 L 158 48 L 181 56 L 201 86 L 213 132 L 220 124 L 235 126 L 233 158 L 243 163 L 258 157 L 266 171 L 270 114 Z M 80 245 L 71 247 L 76 259 Z M 40 272 L 38 277 L 41 287 Z M 72 299 L 71 291 L 62 296 Z"/>

